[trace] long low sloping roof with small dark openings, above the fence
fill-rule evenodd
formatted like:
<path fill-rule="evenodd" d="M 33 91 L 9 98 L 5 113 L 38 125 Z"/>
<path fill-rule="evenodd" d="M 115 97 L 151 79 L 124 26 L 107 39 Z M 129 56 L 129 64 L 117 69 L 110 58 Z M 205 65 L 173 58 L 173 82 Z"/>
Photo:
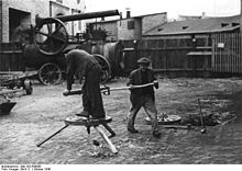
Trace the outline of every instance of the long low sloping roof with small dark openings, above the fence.
<path fill-rule="evenodd" d="M 240 15 L 207 18 L 164 23 L 144 33 L 144 36 L 213 33 L 238 27 L 240 27 Z"/>

